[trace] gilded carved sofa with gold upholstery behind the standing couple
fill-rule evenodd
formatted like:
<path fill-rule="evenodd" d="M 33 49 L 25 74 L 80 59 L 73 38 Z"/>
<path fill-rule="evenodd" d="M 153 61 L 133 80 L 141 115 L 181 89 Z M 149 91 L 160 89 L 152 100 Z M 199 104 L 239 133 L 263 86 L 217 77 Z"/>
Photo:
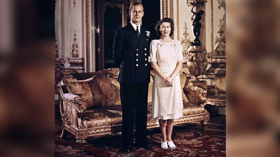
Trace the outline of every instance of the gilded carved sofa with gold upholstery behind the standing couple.
<path fill-rule="evenodd" d="M 121 132 L 122 110 L 120 86 L 117 82 L 119 69 L 104 69 L 94 73 L 69 73 L 68 83 L 61 82 L 60 112 L 63 130 L 60 138 L 70 132 L 76 137 L 79 150 L 84 150 L 86 139 L 91 136 Z M 152 84 L 155 73 L 151 71 L 148 92 L 147 128 L 159 127 L 158 120 L 151 118 Z M 183 117 L 174 124 L 201 121 L 207 130 L 209 113 L 200 104 L 188 102 L 183 87 L 186 74 L 180 74 Z"/>

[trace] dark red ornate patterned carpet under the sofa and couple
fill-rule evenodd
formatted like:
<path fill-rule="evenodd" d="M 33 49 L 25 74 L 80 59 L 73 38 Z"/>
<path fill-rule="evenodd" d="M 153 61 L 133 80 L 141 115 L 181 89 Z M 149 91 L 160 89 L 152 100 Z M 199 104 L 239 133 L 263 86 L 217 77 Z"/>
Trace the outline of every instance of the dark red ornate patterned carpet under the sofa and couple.
<path fill-rule="evenodd" d="M 88 138 L 85 151 L 77 150 L 75 137 L 68 134 L 66 140 L 59 138 L 62 122 L 56 111 L 55 156 L 225 156 L 225 116 L 211 117 L 209 129 L 201 130 L 199 122 L 175 125 L 172 139 L 176 148 L 160 147 L 159 128 L 149 129 L 147 141 L 155 146 L 146 150 L 133 147 L 133 151 L 123 153 L 120 134 Z"/>

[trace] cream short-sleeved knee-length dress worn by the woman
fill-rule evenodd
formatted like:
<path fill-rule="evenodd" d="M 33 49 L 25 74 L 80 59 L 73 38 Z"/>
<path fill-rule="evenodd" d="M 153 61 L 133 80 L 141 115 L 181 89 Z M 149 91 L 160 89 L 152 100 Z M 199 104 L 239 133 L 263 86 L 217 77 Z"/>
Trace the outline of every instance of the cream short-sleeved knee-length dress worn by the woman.
<path fill-rule="evenodd" d="M 184 62 L 180 41 L 171 39 L 169 43 L 163 43 L 160 39 L 152 40 L 150 62 L 152 61 L 157 61 L 166 77 L 170 76 L 177 62 Z M 155 74 L 152 92 L 152 118 L 178 119 L 183 116 L 182 109 L 180 73 L 174 77 L 173 86 L 167 85 L 160 76 Z"/>

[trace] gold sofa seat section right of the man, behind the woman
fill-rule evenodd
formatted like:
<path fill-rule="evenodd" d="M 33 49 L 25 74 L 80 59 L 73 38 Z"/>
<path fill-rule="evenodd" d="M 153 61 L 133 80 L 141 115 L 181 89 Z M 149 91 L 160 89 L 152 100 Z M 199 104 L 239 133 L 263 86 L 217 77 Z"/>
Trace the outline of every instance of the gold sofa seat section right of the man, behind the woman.
<path fill-rule="evenodd" d="M 198 104 L 193 104 L 191 102 L 183 102 L 183 116 L 195 115 L 204 113 L 205 109 Z M 148 111 L 147 111 L 147 121 L 153 121 L 156 119 L 152 119 L 152 103 L 148 103 Z"/>

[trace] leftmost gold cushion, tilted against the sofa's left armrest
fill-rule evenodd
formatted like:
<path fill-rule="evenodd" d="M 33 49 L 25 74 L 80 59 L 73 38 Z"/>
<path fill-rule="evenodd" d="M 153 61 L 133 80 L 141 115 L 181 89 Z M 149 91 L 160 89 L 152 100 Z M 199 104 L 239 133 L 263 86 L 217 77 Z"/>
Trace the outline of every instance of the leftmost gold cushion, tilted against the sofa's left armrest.
<path fill-rule="evenodd" d="M 105 105 L 106 97 L 94 77 L 87 80 L 69 81 L 67 88 L 72 94 L 82 98 L 83 110 Z"/>

